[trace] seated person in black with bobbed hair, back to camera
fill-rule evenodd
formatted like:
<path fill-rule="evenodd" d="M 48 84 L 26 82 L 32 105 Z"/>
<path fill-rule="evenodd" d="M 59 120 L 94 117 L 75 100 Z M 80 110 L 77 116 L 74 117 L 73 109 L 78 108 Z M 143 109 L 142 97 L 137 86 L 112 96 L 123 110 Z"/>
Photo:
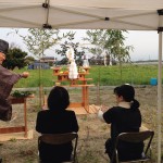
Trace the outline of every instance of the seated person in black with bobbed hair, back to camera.
<path fill-rule="evenodd" d="M 78 123 L 74 111 L 67 111 L 70 96 L 65 88 L 55 86 L 48 97 L 48 110 L 38 112 L 36 130 L 40 134 L 64 134 L 78 131 Z M 46 163 L 70 161 L 73 151 L 72 142 L 64 145 L 47 145 L 41 142 L 39 158 Z"/>

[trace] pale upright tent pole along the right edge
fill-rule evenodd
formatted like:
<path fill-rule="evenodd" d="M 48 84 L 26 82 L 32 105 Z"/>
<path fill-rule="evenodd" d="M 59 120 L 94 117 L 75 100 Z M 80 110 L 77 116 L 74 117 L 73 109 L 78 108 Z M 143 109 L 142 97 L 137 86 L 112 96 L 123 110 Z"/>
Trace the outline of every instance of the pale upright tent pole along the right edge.
<path fill-rule="evenodd" d="M 158 163 L 161 163 L 161 101 L 162 101 L 162 32 L 159 33 L 159 65 L 158 65 Z"/>

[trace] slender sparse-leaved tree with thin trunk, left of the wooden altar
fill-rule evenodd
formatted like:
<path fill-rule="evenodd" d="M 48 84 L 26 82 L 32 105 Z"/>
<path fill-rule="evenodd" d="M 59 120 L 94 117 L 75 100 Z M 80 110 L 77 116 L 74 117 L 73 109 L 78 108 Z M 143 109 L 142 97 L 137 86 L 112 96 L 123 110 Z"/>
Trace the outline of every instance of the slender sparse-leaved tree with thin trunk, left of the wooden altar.
<path fill-rule="evenodd" d="M 29 28 L 28 34 L 23 36 L 16 30 L 16 34 L 23 39 L 29 52 L 37 57 L 40 61 L 45 57 L 45 51 L 53 47 L 62 37 L 59 37 L 58 29 Z M 39 64 L 40 65 L 40 64 Z M 39 66 L 39 106 L 42 105 L 42 82 L 41 65 Z"/>

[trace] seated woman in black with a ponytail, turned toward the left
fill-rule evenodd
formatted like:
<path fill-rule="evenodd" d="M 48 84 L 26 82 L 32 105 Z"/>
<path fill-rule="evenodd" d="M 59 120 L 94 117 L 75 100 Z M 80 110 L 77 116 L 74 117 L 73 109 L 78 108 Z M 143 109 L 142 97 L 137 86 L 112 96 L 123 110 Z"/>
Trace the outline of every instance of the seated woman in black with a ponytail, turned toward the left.
<path fill-rule="evenodd" d="M 111 124 L 111 138 L 105 142 L 105 152 L 112 159 L 116 137 L 121 133 L 139 131 L 141 126 L 141 113 L 139 102 L 135 99 L 135 89 L 129 85 L 122 85 L 114 89 L 117 105 L 106 111 L 99 111 L 98 116 L 103 122 Z M 118 146 L 121 161 L 140 159 L 143 150 L 143 142 L 127 143 Z"/>

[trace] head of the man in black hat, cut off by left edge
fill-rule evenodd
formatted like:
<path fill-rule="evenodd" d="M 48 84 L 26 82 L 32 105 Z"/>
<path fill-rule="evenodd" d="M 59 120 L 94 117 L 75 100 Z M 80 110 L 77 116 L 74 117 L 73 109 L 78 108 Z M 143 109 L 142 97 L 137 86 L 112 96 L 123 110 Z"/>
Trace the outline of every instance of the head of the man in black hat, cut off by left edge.
<path fill-rule="evenodd" d="M 0 39 L 0 64 L 5 60 L 5 53 L 8 52 L 9 43 Z"/>

